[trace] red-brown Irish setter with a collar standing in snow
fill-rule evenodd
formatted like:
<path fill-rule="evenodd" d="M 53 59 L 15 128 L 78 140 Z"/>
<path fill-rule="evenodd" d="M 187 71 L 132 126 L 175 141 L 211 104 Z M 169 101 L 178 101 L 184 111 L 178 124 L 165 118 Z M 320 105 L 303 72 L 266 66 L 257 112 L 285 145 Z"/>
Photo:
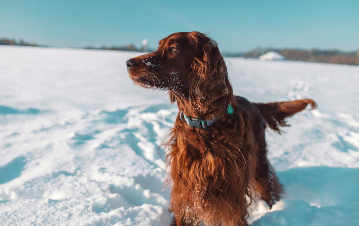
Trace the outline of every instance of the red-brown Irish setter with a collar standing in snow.
<path fill-rule="evenodd" d="M 247 225 L 256 196 L 269 207 L 283 188 L 267 159 L 266 124 L 280 133 L 285 118 L 316 103 L 311 99 L 251 103 L 234 96 L 216 42 L 180 32 L 158 49 L 127 60 L 130 78 L 167 90 L 179 109 L 166 141 L 176 225 Z"/>

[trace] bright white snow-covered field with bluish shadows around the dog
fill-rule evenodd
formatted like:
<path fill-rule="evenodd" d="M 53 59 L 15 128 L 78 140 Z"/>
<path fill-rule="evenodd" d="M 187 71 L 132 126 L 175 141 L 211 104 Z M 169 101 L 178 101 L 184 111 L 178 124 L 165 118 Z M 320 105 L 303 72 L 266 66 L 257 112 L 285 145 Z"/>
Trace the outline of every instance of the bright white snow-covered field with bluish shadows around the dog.
<path fill-rule="evenodd" d="M 132 84 L 138 53 L 0 46 L 0 225 L 169 225 L 165 155 L 177 106 Z M 228 58 L 234 93 L 312 98 L 267 132 L 286 196 L 250 222 L 359 225 L 359 67 Z"/>

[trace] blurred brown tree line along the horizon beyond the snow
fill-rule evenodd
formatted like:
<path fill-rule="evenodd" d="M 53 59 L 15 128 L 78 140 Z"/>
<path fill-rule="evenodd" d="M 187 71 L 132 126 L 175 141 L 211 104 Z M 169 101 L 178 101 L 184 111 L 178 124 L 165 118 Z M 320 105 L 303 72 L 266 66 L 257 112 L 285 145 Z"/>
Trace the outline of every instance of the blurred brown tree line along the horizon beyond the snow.
<path fill-rule="evenodd" d="M 46 45 L 38 45 L 36 43 L 28 43 L 23 40 L 16 41 L 15 39 L 3 38 L 0 39 L 0 45 L 23 45 L 23 46 L 43 46 L 51 47 Z M 93 47 L 86 46 L 84 49 L 106 49 L 106 50 L 121 50 L 121 51 L 138 51 L 142 52 L 142 48 L 137 48 L 134 44 L 128 44 L 124 46 L 102 46 Z M 154 51 L 148 49 L 148 52 Z M 340 50 L 303 50 L 303 49 L 275 49 L 275 48 L 256 48 L 247 53 L 231 53 L 223 52 L 224 57 L 245 57 L 245 58 L 259 58 L 261 55 L 275 51 L 280 55 L 283 55 L 287 60 L 297 60 L 306 62 L 318 62 L 318 63 L 331 63 L 331 64 L 350 64 L 359 65 L 359 50 L 352 52 L 344 52 Z"/>

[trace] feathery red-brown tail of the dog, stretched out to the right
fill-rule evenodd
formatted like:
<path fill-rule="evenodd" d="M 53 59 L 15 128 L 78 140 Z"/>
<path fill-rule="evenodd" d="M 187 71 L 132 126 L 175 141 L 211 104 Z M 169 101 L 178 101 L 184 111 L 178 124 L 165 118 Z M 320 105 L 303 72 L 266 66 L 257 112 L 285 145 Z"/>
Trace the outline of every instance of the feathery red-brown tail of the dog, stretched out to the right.
<path fill-rule="evenodd" d="M 311 105 L 312 109 L 317 108 L 317 104 L 312 99 L 254 104 L 259 109 L 268 126 L 271 129 L 277 131 L 278 133 L 281 132 L 281 130 L 279 129 L 280 126 L 289 126 L 286 123 L 285 118 L 293 116 L 295 113 L 306 109 L 308 104 Z"/>

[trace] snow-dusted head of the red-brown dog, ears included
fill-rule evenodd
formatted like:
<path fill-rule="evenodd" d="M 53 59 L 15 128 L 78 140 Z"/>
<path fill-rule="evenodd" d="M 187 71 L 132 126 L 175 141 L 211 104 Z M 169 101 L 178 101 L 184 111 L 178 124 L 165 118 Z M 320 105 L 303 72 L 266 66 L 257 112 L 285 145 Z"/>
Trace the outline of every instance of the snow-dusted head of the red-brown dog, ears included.
<path fill-rule="evenodd" d="M 127 60 L 135 84 L 168 90 L 171 102 L 183 100 L 203 112 L 205 105 L 228 94 L 227 68 L 215 41 L 197 31 L 159 41 L 153 53 Z"/>

